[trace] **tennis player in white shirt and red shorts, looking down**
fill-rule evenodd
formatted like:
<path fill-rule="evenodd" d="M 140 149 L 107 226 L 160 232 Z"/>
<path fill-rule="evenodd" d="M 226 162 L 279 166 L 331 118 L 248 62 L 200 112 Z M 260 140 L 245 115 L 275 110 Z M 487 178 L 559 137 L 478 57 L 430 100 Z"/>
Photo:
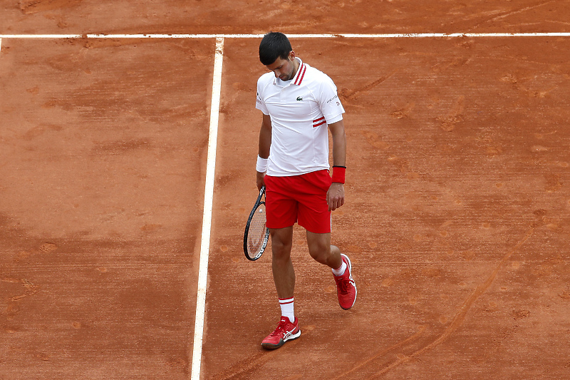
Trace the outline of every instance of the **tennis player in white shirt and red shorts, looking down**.
<path fill-rule="evenodd" d="M 331 245 L 331 211 L 344 204 L 346 135 L 344 108 L 326 74 L 301 61 L 281 33 L 266 34 L 259 60 L 269 69 L 257 81 L 259 131 L 257 187 L 266 186 L 267 227 L 271 234 L 273 279 L 281 320 L 261 346 L 276 349 L 301 335 L 294 314 L 295 272 L 291 262 L 293 225 L 306 229 L 309 254 L 331 267 L 338 303 L 356 300 L 351 260 Z M 333 139 L 329 174 L 328 130 Z"/>

